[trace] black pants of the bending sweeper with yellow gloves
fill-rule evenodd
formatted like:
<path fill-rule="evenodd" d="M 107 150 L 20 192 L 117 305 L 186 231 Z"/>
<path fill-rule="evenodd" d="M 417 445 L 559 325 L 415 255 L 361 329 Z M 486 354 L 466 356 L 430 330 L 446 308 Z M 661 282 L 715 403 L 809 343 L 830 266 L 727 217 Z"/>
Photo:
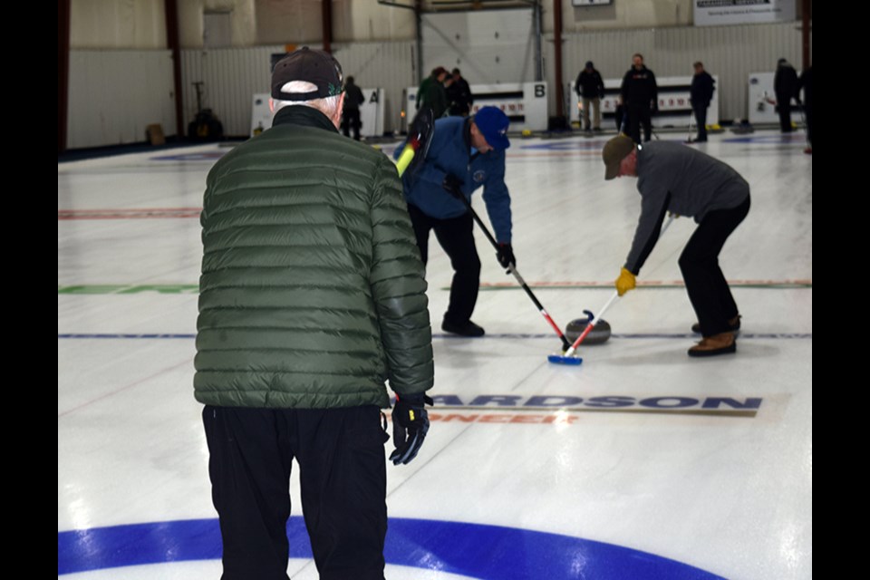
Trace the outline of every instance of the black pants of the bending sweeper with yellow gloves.
<path fill-rule="evenodd" d="M 728 321 L 739 314 L 719 254 L 725 240 L 749 213 L 749 195 L 736 208 L 710 211 L 701 220 L 680 256 L 682 279 L 704 336 L 726 333 Z"/>

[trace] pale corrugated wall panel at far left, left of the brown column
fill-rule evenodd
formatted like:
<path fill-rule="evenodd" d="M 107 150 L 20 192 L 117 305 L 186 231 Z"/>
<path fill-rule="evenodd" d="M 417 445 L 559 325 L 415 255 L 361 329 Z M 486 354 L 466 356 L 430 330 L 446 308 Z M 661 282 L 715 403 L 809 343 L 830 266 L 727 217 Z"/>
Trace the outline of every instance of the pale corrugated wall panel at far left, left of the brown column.
<path fill-rule="evenodd" d="M 146 139 L 151 123 L 175 132 L 169 51 L 70 52 L 70 149 Z"/>

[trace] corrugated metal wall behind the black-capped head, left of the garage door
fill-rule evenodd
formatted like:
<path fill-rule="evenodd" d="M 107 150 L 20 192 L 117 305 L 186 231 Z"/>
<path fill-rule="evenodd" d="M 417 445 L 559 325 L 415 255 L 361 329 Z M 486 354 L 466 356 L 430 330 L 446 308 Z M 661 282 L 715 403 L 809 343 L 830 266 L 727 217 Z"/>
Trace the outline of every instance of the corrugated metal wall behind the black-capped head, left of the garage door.
<path fill-rule="evenodd" d="M 313 46 L 314 47 L 314 46 Z M 414 84 L 413 42 L 333 44 L 345 76 L 353 75 L 362 87 L 386 90 L 385 130 L 400 128 L 402 91 Z M 193 82 L 202 81 L 203 108 L 211 109 L 227 135 L 251 130 L 251 97 L 269 92 L 269 59 L 284 46 L 185 50 L 181 52 L 181 82 L 187 124 L 197 112 Z"/>

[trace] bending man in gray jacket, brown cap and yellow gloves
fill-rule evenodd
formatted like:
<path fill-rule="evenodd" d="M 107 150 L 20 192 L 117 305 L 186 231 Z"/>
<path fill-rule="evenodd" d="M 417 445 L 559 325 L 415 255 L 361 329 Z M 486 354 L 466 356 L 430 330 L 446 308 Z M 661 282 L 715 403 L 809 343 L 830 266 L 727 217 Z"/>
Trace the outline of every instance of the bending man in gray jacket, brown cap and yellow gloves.
<path fill-rule="evenodd" d="M 607 141 L 602 157 L 604 179 L 636 177 L 641 194 L 641 217 L 616 291 L 623 295 L 636 285 L 635 276 L 659 239 L 665 214 L 695 218 L 698 227 L 682 251 L 680 269 L 698 316 L 692 330 L 703 340 L 689 355 L 736 352 L 740 315 L 719 267 L 719 253 L 749 213 L 749 184 L 722 161 L 675 142 L 635 146 L 620 135 Z"/>

